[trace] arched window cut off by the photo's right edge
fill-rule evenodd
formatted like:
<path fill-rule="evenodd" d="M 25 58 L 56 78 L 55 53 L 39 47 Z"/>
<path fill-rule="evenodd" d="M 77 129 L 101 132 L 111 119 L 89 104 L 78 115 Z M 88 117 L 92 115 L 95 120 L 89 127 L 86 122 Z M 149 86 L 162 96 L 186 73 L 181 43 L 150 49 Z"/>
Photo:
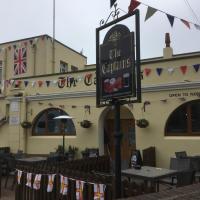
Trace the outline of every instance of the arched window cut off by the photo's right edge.
<path fill-rule="evenodd" d="M 178 107 L 168 118 L 166 136 L 200 136 L 200 101 L 190 101 Z"/>

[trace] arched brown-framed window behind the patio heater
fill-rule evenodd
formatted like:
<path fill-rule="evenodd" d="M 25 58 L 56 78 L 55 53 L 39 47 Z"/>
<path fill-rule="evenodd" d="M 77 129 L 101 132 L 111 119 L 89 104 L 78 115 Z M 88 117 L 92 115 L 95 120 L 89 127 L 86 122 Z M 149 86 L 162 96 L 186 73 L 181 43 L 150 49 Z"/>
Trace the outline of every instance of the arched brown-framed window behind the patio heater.
<path fill-rule="evenodd" d="M 72 119 L 67 119 L 64 124 L 61 120 L 54 119 L 60 115 L 67 115 L 67 113 L 57 108 L 41 112 L 33 124 L 33 135 L 63 135 L 63 131 L 65 135 L 75 135 L 76 130 Z"/>

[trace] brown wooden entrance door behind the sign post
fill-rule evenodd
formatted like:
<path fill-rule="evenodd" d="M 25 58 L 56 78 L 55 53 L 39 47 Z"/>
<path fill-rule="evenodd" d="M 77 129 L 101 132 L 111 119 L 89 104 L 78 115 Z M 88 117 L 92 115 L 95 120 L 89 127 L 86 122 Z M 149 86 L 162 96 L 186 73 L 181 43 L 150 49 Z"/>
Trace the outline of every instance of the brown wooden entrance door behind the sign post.
<path fill-rule="evenodd" d="M 122 169 L 129 166 L 131 153 L 135 150 L 135 120 L 121 119 L 120 128 L 122 133 L 121 140 L 121 160 Z M 115 159 L 115 138 L 114 138 L 114 120 L 107 119 L 105 122 L 105 152 Z"/>

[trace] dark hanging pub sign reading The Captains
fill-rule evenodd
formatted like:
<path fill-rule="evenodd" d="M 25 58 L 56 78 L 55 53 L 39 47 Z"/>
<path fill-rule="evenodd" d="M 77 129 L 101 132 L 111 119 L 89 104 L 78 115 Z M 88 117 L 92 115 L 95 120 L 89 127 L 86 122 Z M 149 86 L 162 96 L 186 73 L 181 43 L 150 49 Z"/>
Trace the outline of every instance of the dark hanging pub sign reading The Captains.
<path fill-rule="evenodd" d="M 97 44 L 97 106 L 111 104 L 116 99 L 137 98 L 138 91 L 141 93 L 134 37 L 135 33 L 127 26 L 116 24 L 108 30 L 102 44 Z"/>

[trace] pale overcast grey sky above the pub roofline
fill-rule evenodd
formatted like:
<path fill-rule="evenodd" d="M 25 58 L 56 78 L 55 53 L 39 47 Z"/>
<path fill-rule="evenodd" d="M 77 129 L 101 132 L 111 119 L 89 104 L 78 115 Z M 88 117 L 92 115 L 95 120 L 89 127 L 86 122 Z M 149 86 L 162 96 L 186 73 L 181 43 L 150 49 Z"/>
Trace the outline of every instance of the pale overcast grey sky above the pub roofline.
<path fill-rule="evenodd" d="M 110 12 L 110 0 L 55 0 L 55 38 L 88 58 L 88 64 L 95 63 L 95 29 L 101 19 Z M 187 0 L 198 20 L 200 1 Z M 193 23 L 200 22 L 194 17 L 186 0 L 141 0 L 156 9 L 183 18 Z M 117 0 L 118 7 L 128 11 L 130 0 Z M 53 36 L 53 0 L 0 0 L 0 43 L 33 37 L 42 34 Z M 147 6 L 140 5 L 141 16 L 141 57 L 162 56 L 164 36 L 171 35 L 174 54 L 200 51 L 200 30 L 188 29 L 179 19 L 171 28 L 166 15 L 156 12 L 144 22 Z M 121 12 L 124 15 L 124 12 Z"/>

